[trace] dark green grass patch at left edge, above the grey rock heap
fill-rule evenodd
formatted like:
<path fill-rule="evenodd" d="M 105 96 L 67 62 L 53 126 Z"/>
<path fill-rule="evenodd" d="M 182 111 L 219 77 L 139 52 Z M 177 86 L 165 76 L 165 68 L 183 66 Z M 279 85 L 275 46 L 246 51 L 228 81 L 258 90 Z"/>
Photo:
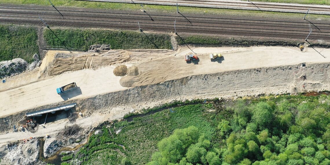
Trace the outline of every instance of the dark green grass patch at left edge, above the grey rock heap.
<path fill-rule="evenodd" d="M 0 61 L 22 58 L 32 62 L 38 53 L 36 28 L 0 24 L 0 34 Z"/>

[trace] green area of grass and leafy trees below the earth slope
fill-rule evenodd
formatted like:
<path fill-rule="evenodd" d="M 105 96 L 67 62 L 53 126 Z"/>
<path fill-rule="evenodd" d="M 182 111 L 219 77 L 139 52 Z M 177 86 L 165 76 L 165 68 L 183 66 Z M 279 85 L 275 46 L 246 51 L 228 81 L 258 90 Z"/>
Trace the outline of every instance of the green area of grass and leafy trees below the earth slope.
<path fill-rule="evenodd" d="M 159 151 L 170 153 L 166 149 L 174 149 L 172 153 L 177 156 L 157 152 L 151 164 L 172 159 L 177 163 L 184 159 L 224 165 L 251 165 L 253 162 L 253 165 L 311 162 L 323 165 L 330 162 L 327 150 L 330 147 L 330 116 L 327 113 L 330 97 L 324 95 L 271 96 L 188 105 L 172 110 L 174 112 L 167 109 L 134 118 L 132 122 L 104 126 L 103 133 L 91 136 L 88 144 L 72 160 L 83 160 L 83 164 L 146 164 L 151 161 L 152 153 L 158 151 L 158 142 L 170 137 L 176 129 L 194 126 L 200 135 L 205 135 L 202 147 L 196 142 L 191 149 L 184 143 L 183 146 L 171 146 L 181 144 L 173 135 L 158 146 L 170 145 L 164 148 L 165 151 Z M 118 130 L 121 131 L 116 134 Z M 166 144 L 169 140 L 176 143 Z M 183 151 L 187 153 L 178 155 L 175 149 L 180 147 L 185 147 Z M 203 157 L 206 153 L 208 156 Z M 194 159 L 196 157 L 198 159 Z"/>

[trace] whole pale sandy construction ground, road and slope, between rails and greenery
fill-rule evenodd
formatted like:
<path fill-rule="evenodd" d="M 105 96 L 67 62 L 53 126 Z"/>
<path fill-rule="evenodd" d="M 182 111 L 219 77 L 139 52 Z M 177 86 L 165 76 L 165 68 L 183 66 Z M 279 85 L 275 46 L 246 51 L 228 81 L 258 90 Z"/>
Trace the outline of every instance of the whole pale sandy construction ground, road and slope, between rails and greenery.
<path fill-rule="evenodd" d="M 107 53 L 118 54 L 118 51 L 122 52 L 124 50 L 110 50 Z M 199 60 L 196 62 L 187 63 L 184 61 L 184 55 L 191 52 L 195 52 L 198 55 Z M 223 58 L 211 61 L 209 59 L 209 53 L 215 52 L 222 53 Z M 59 53 L 70 52 L 61 51 Z M 79 105 L 78 103 L 78 106 L 82 106 L 82 109 L 80 110 L 83 111 L 84 116 L 80 116 L 74 123 L 64 119 L 58 122 L 48 123 L 46 124 L 46 128 L 40 126 L 35 133 L 26 131 L 2 134 L 0 135 L 0 144 L 27 137 L 40 137 L 45 136 L 46 134 L 56 134 L 68 124 L 78 124 L 85 128 L 95 127 L 105 120 L 122 118 L 125 114 L 129 113 L 132 108 L 138 110 L 139 108 L 142 109 L 144 107 L 152 107 L 154 105 L 159 105 L 170 101 L 168 98 L 191 99 L 200 97 L 215 97 L 219 96 L 219 93 L 221 94 L 221 97 L 225 95 L 231 95 L 233 97 L 235 94 L 244 96 L 247 94 L 254 94 L 259 91 L 272 93 L 278 92 L 279 90 L 287 90 L 291 83 L 294 83 L 293 85 L 297 85 L 296 88 L 302 88 L 301 83 L 310 84 L 310 86 L 306 85 L 306 89 L 311 90 L 315 88 L 321 90 L 324 87 L 329 87 L 328 79 L 326 78 L 327 74 L 329 74 L 329 71 L 326 70 L 327 67 L 318 64 L 315 64 L 314 67 L 311 63 L 330 62 L 330 49 L 313 49 L 307 47 L 303 51 L 300 51 L 300 49 L 294 47 L 206 48 L 190 46 L 189 48 L 180 47 L 178 51 L 156 49 L 125 50 L 125 53 L 120 53 L 123 56 L 126 56 L 127 54 L 129 55 L 129 59 L 125 62 L 112 64 L 110 66 L 103 65 L 96 68 L 92 67 L 74 72 L 68 71 L 59 75 L 49 76 L 47 75 L 47 71 L 45 71 L 45 69 L 48 68 L 48 64 L 54 60 L 55 54 L 56 51 L 48 51 L 46 57 L 43 59 L 42 65 L 39 67 L 39 70 L 26 72 L 7 78 L 7 82 L 1 84 L 0 100 L 2 100 L 2 106 L 0 116 L 4 117 L 16 114 L 24 110 L 61 102 L 66 99 L 75 99 L 77 102 L 81 99 L 85 104 L 90 104 L 89 108 L 92 108 L 92 112 L 95 113 L 89 114 L 88 112 L 91 111 L 91 109 L 86 109 L 86 106 Z M 93 54 L 95 54 L 95 56 L 98 55 L 97 53 Z M 77 55 L 76 53 L 75 55 L 75 58 L 79 58 L 80 56 L 88 55 L 88 53 L 85 53 L 84 55 Z M 67 59 L 70 60 L 71 58 L 74 57 Z M 300 63 L 302 62 L 311 65 L 312 70 L 302 71 L 299 69 Z M 193 87 L 194 89 L 180 91 L 181 95 L 178 91 L 178 96 L 176 96 L 177 94 L 173 94 L 175 97 L 169 96 L 168 98 L 162 100 L 162 97 L 159 97 L 158 99 L 157 97 L 154 97 L 152 93 L 161 92 L 162 95 L 168 95 L 166 92 L 162 92 L 166 90 L 163 89 L 166 85 L 155 84 L 150 87 L 152 91 L 148 91 L 149 89 L 147 88 L 140 91 L 143 92 L 141 93 L 141 97 L 144 97 L 143 99 L 134 98 L 129 100 L 125 106 L 116 105 L 117 107 L 114 106 L 111 108 L 102 107 L 102 105 L 104 105 L 103 102 L 100 102 L 100 106 L 96 107 L 90 102 L 90 100 L 86 100 L 86 98 L 93 97 L 92 100 L 96 100 L 96 102 L 97 100 L 101 100 L 111 102 L 115 105 L 121 95 L 114 95 L 118 96 L 118 98 L 113 98 L 110 97 L 111 95 L 103 96 L 102 94 L 116 93 L 116 91 L 120 90 L 123 91 L 122 94 L 135 97 L 132 93 L 135 94 L 138 92 L 136 90 L 140 89 L 132 88 L 132 91 L 125 90 L 130 87 L 122 87 L 120 85 L 121 77 L 116 77 L 113 74 L 114 68 L 121 64 L 124 64 L 127 67 L 136 66 L 138 68 L 140 74 L 132 77 L 134 81 L 133 87 L 196 75 L 195 78 L 190 78 L 186 81 L 183 79 L 180 84 L 174 84 L 176 86 L 172 87 L 175 91 L 178 91 L 178 89 L 175 89 L 177 86 L 182 87 L 182 85 L 188 85 L 190 88 Z M 297 67 L 293 68 L 292 65 L 296 65 Z M 72 65 L 72 67 L 74 67 L 74 65 Z M 251 71 L 251 69 L 253 69 L 254 72 L 260 72 L 261 68 L 265 67 L 273 68 L 271 68 L 268 72 L 266 69 L 266 72 L 261 72 L 259 75 L 253 74 L 253 71 Z M 47 70 L 49 70 L 49 68 Z M 236 70 L 240 71 L 236 72 Z M 224 74 L 221 74 L 221 72 Z M 217 73 L 217 75 L 213 75 L 215 78 L 208 75 L 201 75 L 212 73 Z M 299 82 L 299 77 L 301 76 L 300 74 L 308 74 L 308 80 L 305 82 Z M 223 84 L 220 84 L 221 89 L 215 87 L 214 83 L 217 83 L 215 82 L 216 80 L 223 81 Z M 320 81 L 324 82 L 320 83 Z M 71 82 L 76 82 L 80 89 L 71 91 L 70 95 L 67 95 L 66 97 L 61 97 L 56 93 L 57 87 L 69 84 Z M 258 82 L 260 84 L 258 84 Z M 226 83 L 232 83 L 232 85 Z M 296 88 L 294 89 L 296 90 Z M 193 92 L 193 90 L 195 92 Z M 215 90 L 219 92 L 215 92 Z M 173 91 L 169 92 L 173 93 Z M 99 95 L 99 97 L 95 97 L 95 95 Z M 153 98 L 145 98 L 148 97 L 148 95 Z M 122 99 L 125 100 L 126 98 Z M 156 101 L 157 104 L 155 103 Z M 24 116 L 21 117 L 23 118 Z"/>

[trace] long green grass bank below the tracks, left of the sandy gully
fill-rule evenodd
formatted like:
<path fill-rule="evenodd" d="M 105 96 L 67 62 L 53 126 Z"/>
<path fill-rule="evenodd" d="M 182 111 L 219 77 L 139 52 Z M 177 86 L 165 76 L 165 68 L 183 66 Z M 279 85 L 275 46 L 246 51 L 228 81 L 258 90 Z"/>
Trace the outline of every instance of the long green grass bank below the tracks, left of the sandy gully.
<path fill-rule="evenodd" d="M 93 44 L 110 44 L 111 49 L 171 49 L 170 36 L 166 34 L 140 33 L 95 29 L 52 29 L 57 37 L 45 29 L 48 46 L 66 46 L 88 50 Z"/>

